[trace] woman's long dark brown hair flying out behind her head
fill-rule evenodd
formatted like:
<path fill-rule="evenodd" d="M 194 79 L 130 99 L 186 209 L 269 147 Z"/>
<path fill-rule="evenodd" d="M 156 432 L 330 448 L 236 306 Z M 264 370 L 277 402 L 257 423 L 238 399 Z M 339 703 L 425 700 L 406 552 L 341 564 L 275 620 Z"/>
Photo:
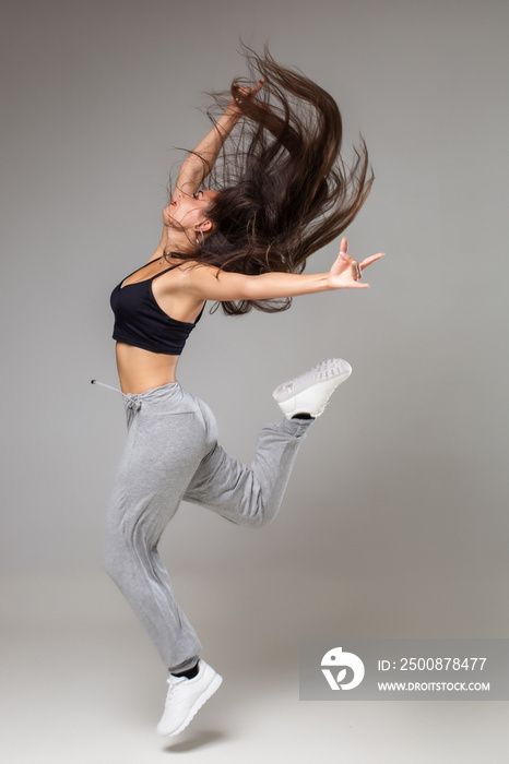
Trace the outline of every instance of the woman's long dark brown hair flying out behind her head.
<path fill-rule="evenodd" d="M 299 71 L 282 67 L 265 48 L 245 49 L 247 82 L 265 83 L 256 99 L 232 85 L 211 94 L 222 110 L 232 94 L 245 116 L 225 142 L 206 186 L 221 190 L 206 215 L 212 232 L 193 260 L 258 275 L 301 273 L 310 254 L 352 223 L 374 181 L 360 138 L 347 167 L 341 156 L 342 119 L 332 96 Z M 241 81 L 235 81 L 240 83 Z M 210 112 L 213 117 L 213 112 Z M 227 314 L 286 310 L 291 298 L 222 302 Z"/>

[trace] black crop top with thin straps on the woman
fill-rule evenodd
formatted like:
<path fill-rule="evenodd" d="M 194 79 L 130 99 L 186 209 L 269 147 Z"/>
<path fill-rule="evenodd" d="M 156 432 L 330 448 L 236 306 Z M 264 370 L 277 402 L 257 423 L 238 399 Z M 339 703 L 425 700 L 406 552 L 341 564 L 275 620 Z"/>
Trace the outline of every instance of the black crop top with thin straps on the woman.
<path fill-rule="evenodd" d="M 186 339 L 200 321 L 203 308 L 192 324 L 171 319 L 156 302 L 152 291 L 152 282 L 178 265 L 171 265 L 171 267 L 167 267 L 143 282 L 122 286 L 128 278 L 144 268 L 145 265 L 129 274 L 111 293 L 110 305 L 115 314 L 114 339 L 141 347 L 143 350 L 179 356 L 184 350 Z"/>

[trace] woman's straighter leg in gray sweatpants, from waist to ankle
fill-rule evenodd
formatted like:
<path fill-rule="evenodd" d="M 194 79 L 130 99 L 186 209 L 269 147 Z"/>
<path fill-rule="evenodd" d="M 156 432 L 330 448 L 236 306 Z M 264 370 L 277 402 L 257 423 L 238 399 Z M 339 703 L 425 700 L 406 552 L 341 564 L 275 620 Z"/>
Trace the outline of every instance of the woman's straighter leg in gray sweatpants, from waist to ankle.
<path fill-rule="evenodd" d="M 200 641 L 175 601 L 157 545 L 210 450 L 200 411 L 178 385 L 127 397 L 128 439 L 106 521 L 104 564 L 164 664 L 197 664 Z"/>

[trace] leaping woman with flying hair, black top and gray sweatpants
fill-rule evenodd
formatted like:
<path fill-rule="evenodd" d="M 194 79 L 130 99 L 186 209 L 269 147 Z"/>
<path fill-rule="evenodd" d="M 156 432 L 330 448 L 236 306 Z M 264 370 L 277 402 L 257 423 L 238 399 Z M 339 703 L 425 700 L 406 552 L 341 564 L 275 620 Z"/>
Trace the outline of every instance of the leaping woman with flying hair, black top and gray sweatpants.
<path fill-rule="evenodd" d="M 180 168 L 154 254 L 111 295 L 128 440 L 105 564 L 169 669 L 165 735 L 180 732 L 222 679 L 199 658 L 198 636 L 173 597 L 157 554 L 164 528 L 182 499 L 234 523 L 271 522 L 301 439 L 351 373 L 335 359 L 280 385 L 274 397 L 285 418 L 262 429 L 247 468 L 217 444 L 208 406 L 177 382 L 186 339 L 208 300 L 228 314 L 285 310 L 298 295 L 366 288 L 363 271 L 382 256 L 358 263 L 343 239 L 329 273 L 301 274 L 309 254 L 363 205 L 372 182 L 367 151 L 363 143 L 346 170 L 331 96 L 267 51 L 247 59 L 261 80 L 232 86 L 224 112 Z"/>

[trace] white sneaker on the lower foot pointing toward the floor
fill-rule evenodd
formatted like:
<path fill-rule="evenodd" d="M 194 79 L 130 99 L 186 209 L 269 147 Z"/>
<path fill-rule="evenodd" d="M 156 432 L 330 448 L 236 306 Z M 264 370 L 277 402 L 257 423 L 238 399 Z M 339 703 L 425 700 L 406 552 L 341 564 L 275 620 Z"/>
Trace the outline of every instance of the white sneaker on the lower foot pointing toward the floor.
<path fill-rule="evenodd" d="M 223 677 L 205 664 L 198 662 L 198 673 L 192 679 L 169 677 L 165 711 L 157 725 L 161 735 L 178 735 L 191 721 L 209 697 L 220 688 Z"/>

